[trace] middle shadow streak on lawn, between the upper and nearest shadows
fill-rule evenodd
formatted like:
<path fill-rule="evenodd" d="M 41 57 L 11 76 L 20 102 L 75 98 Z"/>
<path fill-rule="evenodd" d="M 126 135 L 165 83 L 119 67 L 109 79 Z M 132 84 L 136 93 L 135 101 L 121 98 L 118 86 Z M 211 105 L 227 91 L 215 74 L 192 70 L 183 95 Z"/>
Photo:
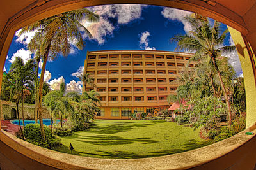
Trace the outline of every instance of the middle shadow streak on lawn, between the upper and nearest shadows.
<path fill-rule="evenodd" d="M 127 145 L 134 142 L 140 142 L 143 144 L 157 143 L 159 141 L 151 140 L 151 138 L 122 138 L 120 136 L 111 136 L 111 135 L 100 135 L 100 136 L 77 136 L 77 141 L 83 143 L 90 143 L 93 145 Z"/>

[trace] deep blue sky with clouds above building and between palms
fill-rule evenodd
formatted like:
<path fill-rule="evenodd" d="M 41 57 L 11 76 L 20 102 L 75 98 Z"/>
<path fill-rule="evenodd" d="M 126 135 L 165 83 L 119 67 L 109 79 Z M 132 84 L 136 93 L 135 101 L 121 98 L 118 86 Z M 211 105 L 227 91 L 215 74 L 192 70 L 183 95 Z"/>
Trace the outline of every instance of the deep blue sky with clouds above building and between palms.
<path fill-rule="evenodd" d="M 47 62 L 45 81 L 52 89 L 58 89 L 60 83 L 65 81 L 67 90 L 81 92 L 81 81 L 76 76 L 83 71 L 87 51 L 174 51 L 176 43 L 170 43 L 169 39 L 175 34 L 186 34 L 190 31 L 190 26 L 184 22 L 184 16 L 189 15 L 188 11 L 138 4 L 95 6 L 89 9 L 100 16 L 98 23 L 82 23 L 92 33 L 93 39 L 84 35 L 86 46 L 83 50 L 73 46 L 67 58 L 60 56 L 53 62 Z M 227 28 L 226 25 L 221 27 L 223 30 Z M 23 34 L 20 38 L 17 34 L 13 37 L 4 70 L 8 71 L 15 56 L 22 57 L 25 61 L 33 58 L 33 54 L 26 48 L 32 36 L 33 32 Z M 229 36 L 225 45 L 232 43 Z M 237 53 L 231 53 L 228 57 L 240 76 L 242 71 Z"/>

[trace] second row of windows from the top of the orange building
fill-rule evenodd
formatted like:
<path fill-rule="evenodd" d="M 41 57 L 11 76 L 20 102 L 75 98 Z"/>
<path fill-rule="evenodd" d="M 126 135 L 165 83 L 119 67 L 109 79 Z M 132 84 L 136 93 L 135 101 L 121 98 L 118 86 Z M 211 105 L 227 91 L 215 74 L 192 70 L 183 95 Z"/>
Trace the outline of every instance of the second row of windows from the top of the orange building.
<path fill-rule="evenodd" d="M 108 66 L 107 62 L 98 62 L 98 67 L 106 67 Z M 119 66 L 118 62 L 109 62 L 109 66 L 115 67 Z M 122 62 L 121 66 L 131 66 L 131 62 Z M 133 66 L 143 66 L 142 62 L 133 62 Z M 145 62 L 145 66 L 155 66 L 154 62 Z M 156 62 L 156 66 L 165 66 L 164 62 Z M 167 66 L 174 67 L 176 66 L 175 62 L 168 62 Z M 177 63 L 177 67 L 184 67 L 185 64 L 183 63 Z M 87 67 L 95 67 L 95 62 L 88 63 Z M 189 64 L 189 67 L 193 67 L 193 64 Z"/>

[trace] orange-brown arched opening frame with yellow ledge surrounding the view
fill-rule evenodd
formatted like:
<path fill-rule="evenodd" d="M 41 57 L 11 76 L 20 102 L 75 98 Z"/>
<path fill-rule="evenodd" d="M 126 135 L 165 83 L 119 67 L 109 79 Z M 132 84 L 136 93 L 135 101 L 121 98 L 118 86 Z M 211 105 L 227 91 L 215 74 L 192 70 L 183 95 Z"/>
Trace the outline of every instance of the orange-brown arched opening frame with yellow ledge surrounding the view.
<path fill-rule="evenodd" d="M 38 0 L 30 4 L 21 11 L 17 11 L 12 18 L 6 22 L 0 35 L 0 85 L 3 75 L 3 67 L 6 60 L 8 48 L 15 34 L 15 31 L 21 27 L 28 25 L 36 20 L 56 15 L 63 11 L 75 10 L 85 6 L 95 6 L 100 4 L 152 4 L 159 6 L 168 6 L 188 10 L 201 15 L 214 18 L 224 24 L 229 25 L 228 29 L 232 34 L 234 43 L 239 52 L 239 59 L 244 73 L 244 81 L 246 87 L 247 101 L 247 124 L 246 131 L 255 131 L 255 103 L 256 103 L 256 87 L 255 87 L 255 55 L 253 50 L 256 49 L 256 26 L 250 22 L 250 17 L 256 17 L 256 6 L 252 6 L 250 11 L 243 17 L 234 13 L 234 11 L 225 8 L 216 3 L 215 6 L 200 0 L 159 0 L 159 1 L 143 1 L 143 0 L 102 0 L 102 1 L 78 1 L 78 0 L 54 0 L 44 1 Z M 241 2 L 243 3 L 243 2 Z M 6 10 L 6 9 L 4 9 Z M 255 131 L 256 132 L 256 131 Z M 18 142 L 17 142 L 18 141 Z M 86 157 L 77 157 L 75 155 L 67 155 L 49 151 L 38 146 L 31 145 L 25 141 L 16 139 L 6 132 L 0 132 L 0 166 L 3 161 L 9 162 L 9 167 L 28 168 L 37 166 L 38 169 L 105 169 L 105 168 L 125 168 L 125 169 L 175 169 L 175 168 L 191 168 L 197 169 L 226 169 L 229 167 L 243 167 L 252 169 L 255 166 L 255 153 L 250 150 L 256 149 L 255 136 L 245 136 L 244 132 L 225 139 L 219 143 L 199 148 L 197 150 L 177 153 L 175 155 L 167 155 L 164 157 L 148 158 L 148 159 L 92 159 Z M 248 152 L 249 151 L 249 152 Z M 8 153 L 8 154 L 7 154 Z M 16 159 L 15 159 L 16 158 Z M 17 159 L 19 158 L 19 159 Z M 8 166 L 7 166 L 8 167 Z M 219 167 L 219 168 L 218 168 Z M 247 168 L 246 168 L 247 167 Z"/>

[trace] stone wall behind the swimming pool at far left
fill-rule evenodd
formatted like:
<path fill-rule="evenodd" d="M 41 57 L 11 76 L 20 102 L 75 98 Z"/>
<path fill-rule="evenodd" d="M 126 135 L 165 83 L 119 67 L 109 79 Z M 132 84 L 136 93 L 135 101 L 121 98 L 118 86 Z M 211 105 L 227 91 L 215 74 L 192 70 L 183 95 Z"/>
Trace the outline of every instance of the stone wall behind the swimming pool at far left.
<path fill-rule="evenodd" d="M 16 103 L 0 100 L 1 120 L 18 118 L 16 110 L 17 110 Z M 23 118 L 22 117 L 22 103 L 19 103 L 19 116 L 20 116 L 20 118 Z M 50 118 L 50 114 L 45 107 L 43 108 L 42 117 Z M 24 118 L 25 119 L 34 119 L 35 118 L 35 104 L 24 103 Z"/>

